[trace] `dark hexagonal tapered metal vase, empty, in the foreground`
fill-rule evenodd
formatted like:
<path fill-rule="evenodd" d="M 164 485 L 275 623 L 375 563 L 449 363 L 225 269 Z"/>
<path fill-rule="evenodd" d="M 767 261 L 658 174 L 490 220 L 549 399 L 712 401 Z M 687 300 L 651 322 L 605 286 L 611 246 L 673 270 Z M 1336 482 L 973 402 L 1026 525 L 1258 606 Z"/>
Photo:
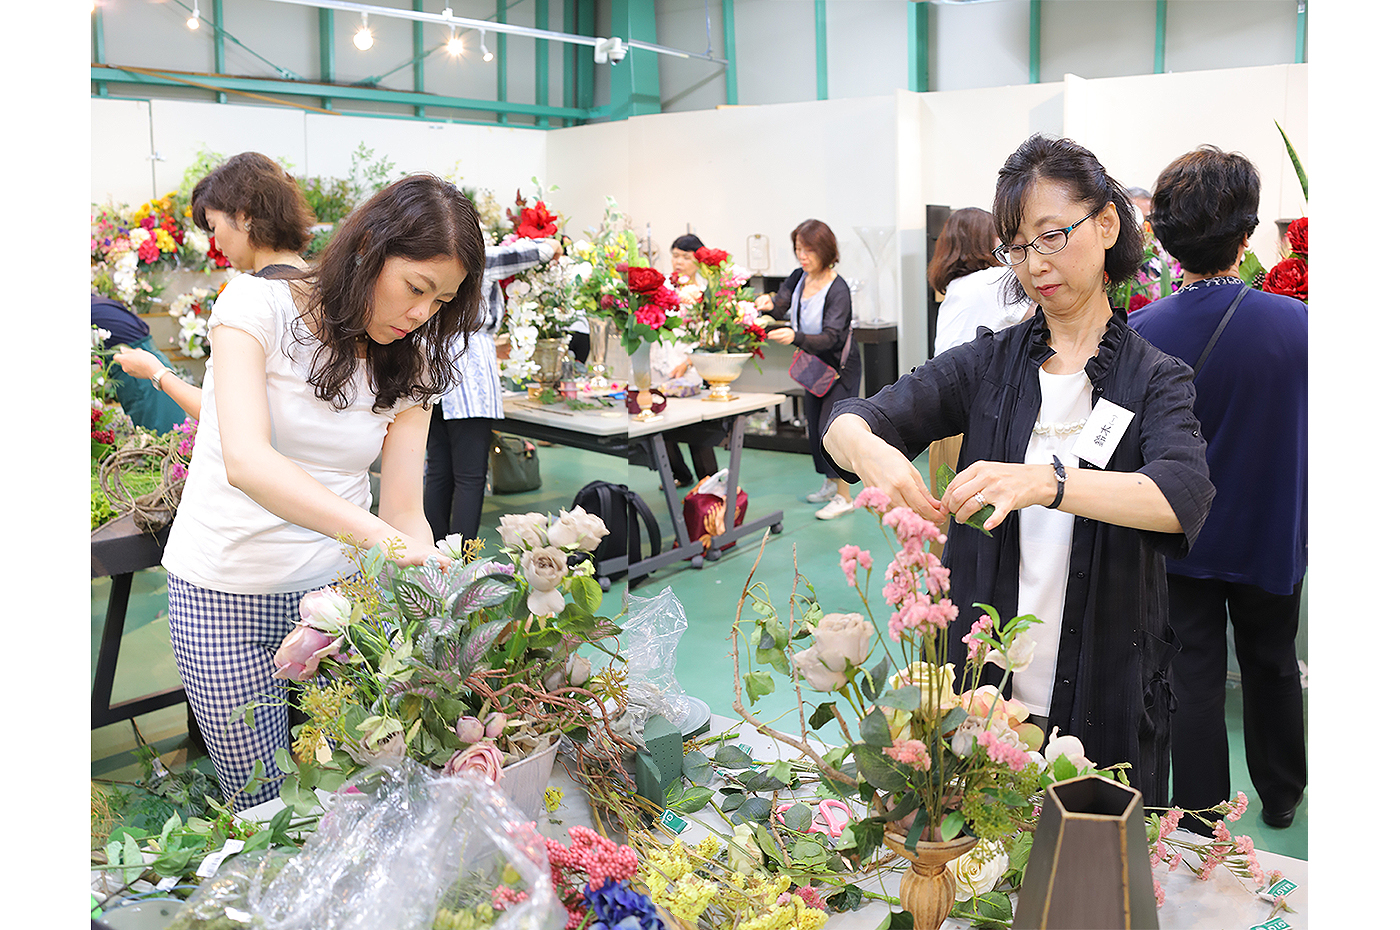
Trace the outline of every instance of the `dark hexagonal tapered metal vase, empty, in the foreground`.
<path fill-rule="evenodd" d="M 1098 775 L 1046 789 L 1011 926 L 1155 930 L 1141 791 Z"/>

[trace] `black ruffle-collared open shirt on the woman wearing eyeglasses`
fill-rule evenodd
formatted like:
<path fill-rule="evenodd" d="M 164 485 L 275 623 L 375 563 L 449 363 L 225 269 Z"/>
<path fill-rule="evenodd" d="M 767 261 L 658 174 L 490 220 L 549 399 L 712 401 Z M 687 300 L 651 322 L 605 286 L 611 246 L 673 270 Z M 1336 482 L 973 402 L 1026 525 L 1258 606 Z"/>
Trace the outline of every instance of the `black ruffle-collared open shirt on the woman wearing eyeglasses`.
<path fill-rule="evenodd" d="M 1040 310 L 997 333 L 979 328 L 972 342 L 930 359 L 874 398 L 840 402 L 832 417 L 855 413 L 910 459 L 934 440 L 962 433 L 959 471 L 983 459 L 1022 462 L 1040 412 L 1037 371 L 1054 354 L 1049 338 Z M 1131 763 L 1130 780 L 1144 803 L 1159 807 L 1166 804 L 1170 759 L 1166 668 L 1177 651 L 1168 629 L 1165 559 L 1187 553 L 1215 489 L 1191 412 L 1190 367 L 1152 347 L 1116 311 L 1085 374 L 1095 402 L 1107 398 L 1135 415 L 1107 469 L 1151 478 L 1183 532 L 1075 517 L 1050 726 L 1078 737 L 1100 766 Z M 850 472 L 841 476 L 858 480 Z M 944 563 L 959 608 L 949 626 L 949 660 L 958 668 L 967 653 L 962 637 L 981 616 L 974 604 L 991 604 L 1007 618 L 1018 612 L 1019 541 L 1016 513 L 991 536 L 956 522 L 949 528 Z M 995 683 L 1001 669 L 991 672 L 995 678 L 987 678 Z"/>

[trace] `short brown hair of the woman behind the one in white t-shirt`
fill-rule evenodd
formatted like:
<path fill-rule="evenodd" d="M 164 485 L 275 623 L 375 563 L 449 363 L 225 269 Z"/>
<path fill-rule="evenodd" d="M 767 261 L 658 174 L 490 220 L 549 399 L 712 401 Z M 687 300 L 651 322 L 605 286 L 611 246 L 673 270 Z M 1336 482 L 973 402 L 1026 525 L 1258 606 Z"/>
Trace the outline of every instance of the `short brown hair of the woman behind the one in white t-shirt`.
<path fill-rule="evenodd" d="M 189 195 L 195 225 L 213 233 L 206 210 L 248 217 L 248 241 L 256 248 L 300 252 L 311 241 L 311 211 L 301 185 L 281 165 L 258 151 L 234 155 L 199 179 Z"/>

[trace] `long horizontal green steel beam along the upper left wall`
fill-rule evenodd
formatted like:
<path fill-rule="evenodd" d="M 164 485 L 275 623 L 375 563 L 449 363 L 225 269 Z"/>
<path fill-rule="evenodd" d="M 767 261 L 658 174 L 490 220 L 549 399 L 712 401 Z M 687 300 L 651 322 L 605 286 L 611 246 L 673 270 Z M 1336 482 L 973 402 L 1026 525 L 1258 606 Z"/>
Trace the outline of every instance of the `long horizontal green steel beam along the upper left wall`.
<path fill-rule="evenodd" d="M 283 81 L 262 77 L 230 77 L 227 74 L 190 74 L 188 71 L 158 71 L 155 69 L 127 70 L 120 66 L 92 66 L 94 81 L 118 81 L 123 84 L 154 84 L 160 87 L 189 87 L 196 84 L 213 90 L 246 94 L 283 94 L 291 97 L 319 97 L 322 99 L 354 99 L 375 104 L 399 104 L 409 106 L 441 106 L 445 109 L 466 109 L 484 112 L 521 113 L 524 116 L 557 116 L 560 119 L 589 119 L 602 111 L 580 106 L 539 106 L 536 104 L 507 104 L 501 101 L 475 99 L 470 97 L 448 97 L 444 94 L 414 94 L 413 91 L 391 91 L 378 87 L 356 84 L 316 84 L 312 81 Z M 357 116 L 361 113 L 356 113 Z M 370 113 L 364 113 L 370 115 Z"/>

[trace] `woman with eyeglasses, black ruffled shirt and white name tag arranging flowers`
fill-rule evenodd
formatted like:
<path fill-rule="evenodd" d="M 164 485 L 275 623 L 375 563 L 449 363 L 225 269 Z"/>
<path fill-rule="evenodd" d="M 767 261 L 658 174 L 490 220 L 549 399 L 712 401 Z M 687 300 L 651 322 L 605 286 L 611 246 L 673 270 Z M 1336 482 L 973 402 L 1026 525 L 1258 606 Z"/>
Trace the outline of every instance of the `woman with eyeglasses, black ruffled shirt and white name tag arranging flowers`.
<path fill-rule="evenodd" d="M 1109 304 L 1142 245 L 1127 195 L 1091 151 L 1030 137 L 997 176 L 993 214 L 1008 297 L 1029 296 L 1035 315 L 841 403 L 825 447 L 893 504 L 937 522 L 952 514 L 949 661 L 966 660 L 976 604 L 1033 613 L 1035 651 L 1008 696 L 1096 763 L 1130 763 L 1144 801 L 1163 805 L 1176 651 L 1165 557 L 1186 555 L 1215 493 L 1191 370 Z M 958 475 L 938 499 L 909 459 L 955 433 Z M 967 522 L 984 507 L 990 535 Z M 998 683 L 1001 669 L 988 671 L 984 683 Z"/>

